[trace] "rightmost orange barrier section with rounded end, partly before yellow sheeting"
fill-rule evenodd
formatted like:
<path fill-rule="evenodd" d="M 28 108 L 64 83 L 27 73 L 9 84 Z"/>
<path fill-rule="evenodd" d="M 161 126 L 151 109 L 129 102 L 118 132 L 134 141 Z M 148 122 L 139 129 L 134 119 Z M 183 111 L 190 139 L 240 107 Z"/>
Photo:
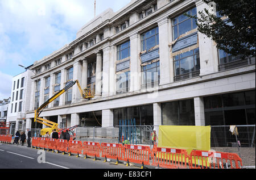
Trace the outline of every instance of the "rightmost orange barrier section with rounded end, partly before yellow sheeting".
<path fill-rule="evenodd" d="M 241 169 L 242 160 L 235 153 L 192 150 L 190 153 L 191 169 Z"/>

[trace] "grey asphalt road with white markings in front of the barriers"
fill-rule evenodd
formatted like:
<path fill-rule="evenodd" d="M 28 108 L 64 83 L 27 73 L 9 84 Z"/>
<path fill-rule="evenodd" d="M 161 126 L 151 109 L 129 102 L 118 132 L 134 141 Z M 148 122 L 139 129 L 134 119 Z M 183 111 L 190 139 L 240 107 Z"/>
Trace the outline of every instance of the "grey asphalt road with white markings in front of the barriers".
<path fill-rule="evenodd" d="M 45 154 L 45 155 L 44 155 Z M 47 150 L 27 148 L 25 145 L 0 143 L 0 169 L 139 169 L 137 166 L 115 165 L 104 159 L 68 156 Z"/>

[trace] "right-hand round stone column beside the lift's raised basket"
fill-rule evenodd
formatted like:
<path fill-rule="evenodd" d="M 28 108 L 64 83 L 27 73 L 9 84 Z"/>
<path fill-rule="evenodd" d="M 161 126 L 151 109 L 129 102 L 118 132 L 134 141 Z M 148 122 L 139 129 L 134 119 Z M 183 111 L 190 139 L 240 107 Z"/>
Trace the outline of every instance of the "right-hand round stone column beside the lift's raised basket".
<path fill-rule="evenodd" d="M 102 55 L 101 52 L 97 52 L 96 60 L 96 90 L 95 90 L 95 99 L 101 98 L 102 92 Z"/>

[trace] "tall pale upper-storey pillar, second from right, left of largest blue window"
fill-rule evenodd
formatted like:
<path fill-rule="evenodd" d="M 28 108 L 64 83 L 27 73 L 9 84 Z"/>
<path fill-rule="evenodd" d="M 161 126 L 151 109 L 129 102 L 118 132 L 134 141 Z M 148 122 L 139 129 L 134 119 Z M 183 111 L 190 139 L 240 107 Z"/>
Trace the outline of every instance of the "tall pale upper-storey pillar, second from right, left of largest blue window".
<path fill-rule="evenodd" d="M 158 22 L 159 27 L 159 58 L 160 58 L 160 85 L 170 83 L 174 79 L 174 71 L 170 61 L 170 19 L 163 18 Z"/>

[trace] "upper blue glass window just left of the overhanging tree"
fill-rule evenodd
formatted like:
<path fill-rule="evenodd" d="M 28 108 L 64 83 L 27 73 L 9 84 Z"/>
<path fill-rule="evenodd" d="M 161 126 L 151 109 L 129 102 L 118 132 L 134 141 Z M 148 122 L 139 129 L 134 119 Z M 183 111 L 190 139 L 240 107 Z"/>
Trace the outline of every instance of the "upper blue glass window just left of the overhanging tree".
<path fill-rule="evenodd" d="M 192 16 L 196 15 L 196 7 L 185 13 Z M 172 20 L 172 31 L 174 40 L 177 39 L 177 37 L 179 37 L 180 35 L 183 35 L 186 32 L 191 31 L 195 28 L 197 28 L 196 20 L 194 18 L 189 18 L 184 14 L 181 14 Z"/>

